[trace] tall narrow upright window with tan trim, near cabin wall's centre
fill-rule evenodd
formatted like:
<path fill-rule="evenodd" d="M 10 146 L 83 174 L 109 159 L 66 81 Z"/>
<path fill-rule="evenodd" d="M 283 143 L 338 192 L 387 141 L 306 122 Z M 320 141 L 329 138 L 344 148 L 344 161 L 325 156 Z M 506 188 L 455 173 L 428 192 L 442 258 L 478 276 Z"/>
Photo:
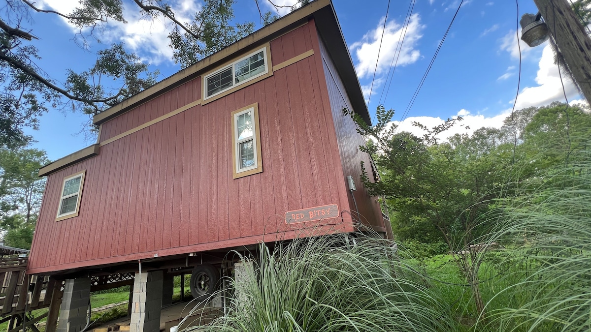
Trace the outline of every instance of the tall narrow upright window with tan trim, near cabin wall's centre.
<path fill-rule="evenodd" d="M 262 172 L 258 104 L 232 112 L 233 177 Z"/>

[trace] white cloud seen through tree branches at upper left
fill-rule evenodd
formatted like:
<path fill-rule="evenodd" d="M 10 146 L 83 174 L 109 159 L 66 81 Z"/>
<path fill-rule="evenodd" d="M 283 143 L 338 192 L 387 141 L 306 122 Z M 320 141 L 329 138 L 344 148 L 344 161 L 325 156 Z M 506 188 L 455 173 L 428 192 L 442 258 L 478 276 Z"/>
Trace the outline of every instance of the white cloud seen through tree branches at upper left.
<path fill-rule="evenodd" d="M 192 0 L 173 0 L 169 4 L 175 9 L 175 17 L 180 22 L 189 22 L 201 6 Z M 51 8 L 62 13 L 70 13 L 79 5 L 79 0 L 42 0 L 43 8 Z M 168 47 L 168 34 L 173 29 L 170 21 L 163 17 L 155 19 L 145 18 L 139 11 L 139 7 L 131 2 L 124 2 L 124 18 L 128 23 L 110 21 L 105 30 L 94 30 L 99 40 L 105 44 L 123 41 L 127 48 L 131 49 L 144 60 L 152 64 L 163 61 L 171 61 L 173 51 Z M 79 29 L 70 25 L 74 32 Z"/>

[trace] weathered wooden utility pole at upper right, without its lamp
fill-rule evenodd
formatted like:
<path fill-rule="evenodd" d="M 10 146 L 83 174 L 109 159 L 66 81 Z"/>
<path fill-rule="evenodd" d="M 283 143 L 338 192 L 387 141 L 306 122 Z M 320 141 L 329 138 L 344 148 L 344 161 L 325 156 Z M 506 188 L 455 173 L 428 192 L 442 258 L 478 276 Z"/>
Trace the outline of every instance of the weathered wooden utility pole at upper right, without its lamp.
<path fill-rule="evenodd" d="M 591 39 L 568 0 L 534 0 L 576 80 L 591 105 Z"/>

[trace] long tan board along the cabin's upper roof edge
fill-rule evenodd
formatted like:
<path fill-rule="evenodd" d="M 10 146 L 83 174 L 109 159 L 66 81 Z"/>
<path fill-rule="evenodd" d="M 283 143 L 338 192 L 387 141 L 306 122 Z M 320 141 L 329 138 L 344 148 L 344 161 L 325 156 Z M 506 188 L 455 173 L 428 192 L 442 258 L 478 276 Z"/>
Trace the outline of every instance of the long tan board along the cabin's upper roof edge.
<path fill-rule="evenodd" d="M 260 30 L 242 38 L 241 40 L 237 41 L 234 44 L 229 45 L 223 50 L 212 54 L 209 57 L 204 58 L 203 60 L 193 64 L 193 66 L 187 67 L 178 73 L 173 74 L 172 76 L 164 79 L 163 81 L 154 84 L 154 86 L 149 87 L 148 89 L 138 93 L 137 95 L 131 96 L 128 99 L 125 99 L 121 103 L 113 106 L 112 108 L 105 110 L 104 112 L 95 115 L 93 118 L 93 123 L 98 125 L 107 121 L 108 119 L 113 118 L 114 116 L 118 115 L 121 112 L 125 112 L 129 108 L 136 107 L 140 103 L 145 102 L 146 99 L 152 99 L 160 95 L 167 90 L 173 89 L 174 87 L 178 86 L 179 84 L 190 80 L 191 77 L 195 77 L 196 73 L 199 73 L 202 70 L 206 70 L 207 68 L 214 66 L 215 64 L 219 63 L 220 61 L 224 61 L 226 58 L 232 56 L 236 53 L 245 53 L 246 50 L 254 50 L 256 47 L 261 45 L 261 41 L 269 41 L 272 38 L 276 37 L 278 34 L 281 34 L 282 30 L 285 28 L 293 27 L 293 25 L 302 24 L 303 20 L 306 20 L 312 15 L 321 15 L 319 12 L 321 9 L 325 7 L 332 6 L 330 0 L 316 0 L 310 2 L 310 4 L 304 6 L 297 11 L 291 12 L 288 15 L 285 15 L 281 19 L 261 28 Z M 333 10 L 330 11 L 331 15 Z M 323 12 L 322 15 L 326 15 L 326 12 Z"/>

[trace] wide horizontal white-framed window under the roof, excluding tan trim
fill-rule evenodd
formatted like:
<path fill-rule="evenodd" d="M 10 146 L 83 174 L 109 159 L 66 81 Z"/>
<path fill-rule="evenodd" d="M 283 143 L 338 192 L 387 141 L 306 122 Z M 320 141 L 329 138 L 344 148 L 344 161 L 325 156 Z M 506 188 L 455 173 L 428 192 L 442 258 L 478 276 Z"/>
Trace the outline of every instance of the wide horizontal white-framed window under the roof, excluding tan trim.
<path fill-rule="evenodd" d="M 254 51 L 204 78 L 204 99 L 268 73 L 267 47 Z"/>

